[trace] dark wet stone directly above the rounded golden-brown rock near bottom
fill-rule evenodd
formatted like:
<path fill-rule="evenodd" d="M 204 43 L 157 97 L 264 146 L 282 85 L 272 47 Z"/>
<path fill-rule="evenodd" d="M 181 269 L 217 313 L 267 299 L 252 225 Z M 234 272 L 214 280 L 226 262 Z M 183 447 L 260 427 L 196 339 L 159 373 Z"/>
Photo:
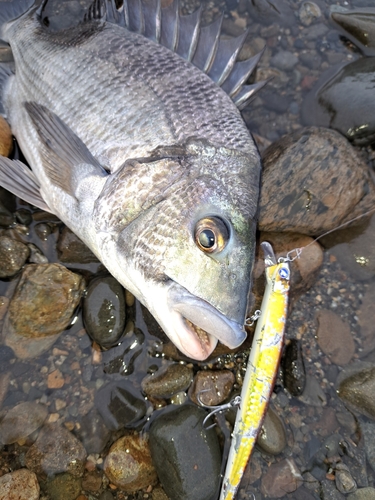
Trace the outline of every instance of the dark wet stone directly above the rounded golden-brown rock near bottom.
<path fill-rule="evenodd" d="M 130 382 L 111 382 L 97 392 L 95 407 L 111 430 L 131 427 L 146 414 L 146 403 Z"/>

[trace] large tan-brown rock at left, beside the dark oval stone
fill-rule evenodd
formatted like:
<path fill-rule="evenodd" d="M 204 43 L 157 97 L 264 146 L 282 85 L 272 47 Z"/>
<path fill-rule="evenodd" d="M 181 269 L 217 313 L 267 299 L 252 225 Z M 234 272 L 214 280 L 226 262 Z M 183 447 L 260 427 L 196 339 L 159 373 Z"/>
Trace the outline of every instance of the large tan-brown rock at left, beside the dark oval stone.
<path fill-rule="evenodd" d="M 26 266 L 4 320 L 5 344 L 21 359 L 47 350 L 69 325 L 83 289 L 83 278 L 60 264 Z"/>

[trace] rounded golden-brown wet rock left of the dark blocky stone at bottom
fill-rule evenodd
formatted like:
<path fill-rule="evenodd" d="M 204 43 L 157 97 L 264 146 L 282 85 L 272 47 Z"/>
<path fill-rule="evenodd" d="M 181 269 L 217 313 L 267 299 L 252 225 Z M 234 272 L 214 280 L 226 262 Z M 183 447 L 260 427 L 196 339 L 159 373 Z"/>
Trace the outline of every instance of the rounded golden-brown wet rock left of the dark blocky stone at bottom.
<path fill-rule="evenodd" d="M 148 442 L 139 435 L 124 436 L 111 446 L 104 472 L 111 483 L 127 493 L 157 483 Z"/>

